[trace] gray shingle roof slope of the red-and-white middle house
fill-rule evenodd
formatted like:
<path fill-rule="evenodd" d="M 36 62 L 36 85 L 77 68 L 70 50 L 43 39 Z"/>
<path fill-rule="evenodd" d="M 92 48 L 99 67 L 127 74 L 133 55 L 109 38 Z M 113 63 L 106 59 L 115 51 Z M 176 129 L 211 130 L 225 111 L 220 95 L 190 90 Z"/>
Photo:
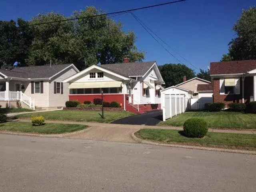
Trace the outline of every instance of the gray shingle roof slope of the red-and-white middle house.
<path fill-rule="evenodd" d="M 154 63 L 155 61 L 129 62 L 129 63 L 104 64 L 104 65 L 101 65 L 100 67 L 125 77 L 143 76 Z"/>

